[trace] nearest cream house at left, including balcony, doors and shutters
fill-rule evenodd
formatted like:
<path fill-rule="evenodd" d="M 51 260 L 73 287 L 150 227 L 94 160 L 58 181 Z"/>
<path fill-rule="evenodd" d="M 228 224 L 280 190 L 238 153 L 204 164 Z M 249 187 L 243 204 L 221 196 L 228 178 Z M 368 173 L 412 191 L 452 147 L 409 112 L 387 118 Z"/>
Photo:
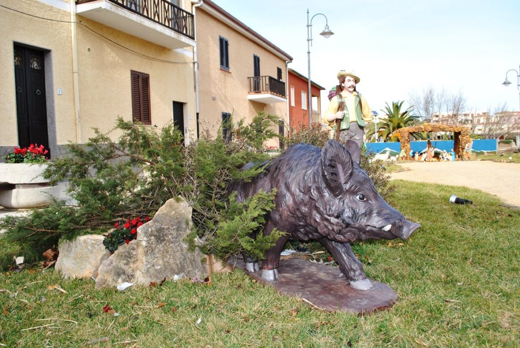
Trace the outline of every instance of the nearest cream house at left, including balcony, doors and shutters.
<path fill-rule="evenodd" d="M 175 121 L 187 141 L 196 133 L 190 1 L 0 5 L 0 156 L 31 143 L 56 156 L 118 116 L 151 127 Z"/>

